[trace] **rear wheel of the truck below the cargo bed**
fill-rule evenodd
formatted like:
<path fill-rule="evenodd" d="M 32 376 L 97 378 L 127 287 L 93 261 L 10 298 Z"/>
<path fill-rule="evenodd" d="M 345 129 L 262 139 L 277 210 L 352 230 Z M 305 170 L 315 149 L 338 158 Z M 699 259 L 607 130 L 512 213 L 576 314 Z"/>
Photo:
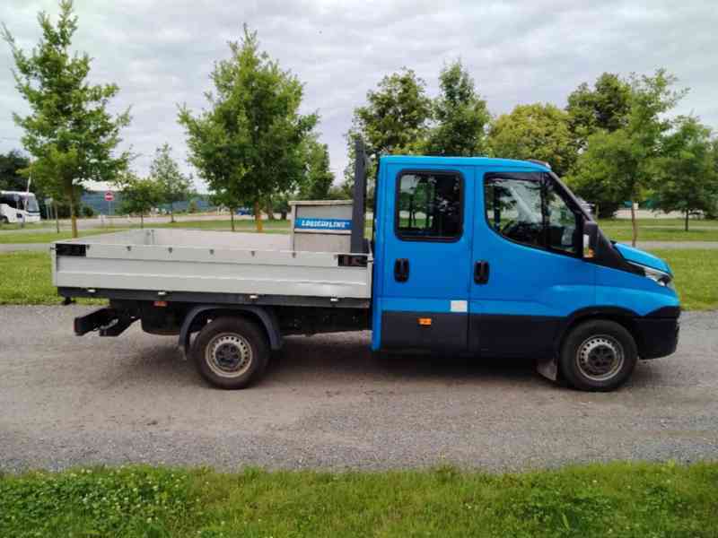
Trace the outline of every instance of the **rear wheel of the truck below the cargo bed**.
<path fill-rule="evenodd" d="M 237 389 L 258 382 L 269 352 L 267 336 L 256 323 L 245 317 L 218 317 L 197 334 L 192 360 L 211 385 Z"/>

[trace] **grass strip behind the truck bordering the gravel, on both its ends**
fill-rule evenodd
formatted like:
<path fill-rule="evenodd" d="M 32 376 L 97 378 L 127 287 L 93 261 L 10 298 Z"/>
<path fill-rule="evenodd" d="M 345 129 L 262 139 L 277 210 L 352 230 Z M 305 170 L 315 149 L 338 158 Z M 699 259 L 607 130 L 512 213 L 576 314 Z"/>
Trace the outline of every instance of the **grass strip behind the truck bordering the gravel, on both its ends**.
<path fill-rule="evenodd" d="M 654 249 L 676 275 L 681 304 L 687 310 L 718 308 L 718 250 Z M 62 299 L 51 283 L 45 252 L 0 254 L 0 305 L 54 305 Z M 98 299 L 83 299 L 94 304 Z"/>

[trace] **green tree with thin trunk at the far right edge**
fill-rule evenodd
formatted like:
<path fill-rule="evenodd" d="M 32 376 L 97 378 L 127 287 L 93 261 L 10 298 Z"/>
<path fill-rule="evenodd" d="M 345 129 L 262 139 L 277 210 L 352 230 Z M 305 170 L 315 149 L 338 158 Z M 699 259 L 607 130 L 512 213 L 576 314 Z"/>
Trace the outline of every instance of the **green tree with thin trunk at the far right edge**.
<path fill-rule="evenodd" d="M 711 130 L 696 117 L 679 117 L 675 131 L 662 143 L 654 166 L 656 206 L 668 213 L 712 213 L 718 208 L 718 169 Z"/>

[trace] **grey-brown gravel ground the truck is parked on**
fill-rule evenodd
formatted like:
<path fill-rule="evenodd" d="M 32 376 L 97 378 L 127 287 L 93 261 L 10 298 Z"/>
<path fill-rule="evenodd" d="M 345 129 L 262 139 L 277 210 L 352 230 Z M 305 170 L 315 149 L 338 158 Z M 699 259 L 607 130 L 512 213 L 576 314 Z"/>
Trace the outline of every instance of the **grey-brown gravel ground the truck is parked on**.
<path fill-rule="evenodd" d="M 0 307 L 0 469 L 79 464 L 490 470 L 718 458 L 718 312 L 687 313 L 679 351 L 611 394 L 528 361 L 391 357 L 369 334 L 287 339 L 267 378 L 206 386 L 172 337 L 72 334 L 87 307 Z"/>

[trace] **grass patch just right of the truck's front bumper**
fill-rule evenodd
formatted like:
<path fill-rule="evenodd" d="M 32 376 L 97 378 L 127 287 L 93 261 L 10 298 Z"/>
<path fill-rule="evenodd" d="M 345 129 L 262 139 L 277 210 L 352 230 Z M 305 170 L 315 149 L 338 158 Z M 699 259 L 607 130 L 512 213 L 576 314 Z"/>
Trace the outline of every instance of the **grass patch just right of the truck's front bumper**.
<path fill-rule="evenodd" d="M 718 308 L 718 250 L 652 249 L 676 275 L 681 306 L 687 310 Z"/>

